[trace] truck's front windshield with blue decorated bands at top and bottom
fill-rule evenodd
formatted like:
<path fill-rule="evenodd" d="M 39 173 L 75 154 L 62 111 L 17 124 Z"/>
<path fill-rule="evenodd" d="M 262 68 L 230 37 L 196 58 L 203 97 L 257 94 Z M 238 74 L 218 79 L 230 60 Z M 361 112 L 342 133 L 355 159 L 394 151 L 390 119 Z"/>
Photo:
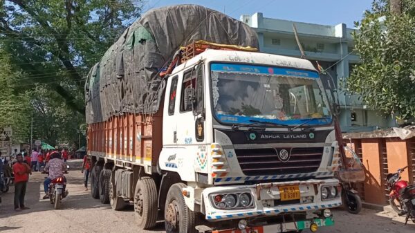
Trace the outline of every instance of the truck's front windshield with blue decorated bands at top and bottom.
<path fill-rule="evenodd" d="M 210 71 L 213 109 L 221 122 L 331 122 L 329 103 L 314 71 L 223 63 L 212 63 Z"/>

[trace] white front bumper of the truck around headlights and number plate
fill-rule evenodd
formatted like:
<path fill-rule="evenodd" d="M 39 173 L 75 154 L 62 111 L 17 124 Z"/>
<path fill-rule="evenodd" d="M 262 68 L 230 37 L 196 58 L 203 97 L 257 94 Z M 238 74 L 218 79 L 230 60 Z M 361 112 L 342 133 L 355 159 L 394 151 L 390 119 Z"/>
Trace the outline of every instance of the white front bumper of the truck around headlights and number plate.
<path fill-rule="evenodd" d="M 299 203 L 284 203 L 280 201 L 278 187 L 284 185 L 299 185 L 300 196 L 302 199 Z M 228 219 L 251 218 L 254 216 L 275 216 L 279 214 L 289 214 L 294 212 L 315 212 L 319 209 L 327 209 L 342 205 L 341 194 L 336 198 L 328 201 L 321 201 L 320 190 L 322 186 L 338 185 L 338 180 L 304 180 L 278 183 L 266 183 L 258 185 L 235 185 L 226 187 L 209 187 L 203 190 L 203 204 L 205 209 L 205 218 L 208 221 L 223 221 Z M 246 190 L 252 194 L 255 205 L 249 209 L 217 209 L 212 205 L 211 194 L 232 193 Z M 304 198 L 308 202 L 301 203 Z M 278 204 L 274 204 L 278 201 Z M 265 205 L 271 203 L 271 205 Z"/>

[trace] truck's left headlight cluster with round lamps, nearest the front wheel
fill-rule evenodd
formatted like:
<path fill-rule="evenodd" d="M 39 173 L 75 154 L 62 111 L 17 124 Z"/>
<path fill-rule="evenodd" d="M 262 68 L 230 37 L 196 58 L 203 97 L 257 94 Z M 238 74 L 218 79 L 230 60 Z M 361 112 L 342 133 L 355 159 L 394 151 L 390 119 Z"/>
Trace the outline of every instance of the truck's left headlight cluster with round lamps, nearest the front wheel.
<path fill-rule="evenodd" d="M 250 192 L 210 194 L 210 202 L 216 209 L 248 209 L 254 207 Z"/>

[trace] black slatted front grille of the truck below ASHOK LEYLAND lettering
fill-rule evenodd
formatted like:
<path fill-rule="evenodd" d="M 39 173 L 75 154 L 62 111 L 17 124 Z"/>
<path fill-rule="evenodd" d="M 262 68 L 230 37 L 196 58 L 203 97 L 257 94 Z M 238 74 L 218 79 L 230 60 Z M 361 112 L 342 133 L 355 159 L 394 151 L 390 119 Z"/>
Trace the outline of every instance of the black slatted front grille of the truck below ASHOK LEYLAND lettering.
<path fill-rule="evenodd" d="M 282 162 L 277 151 L 286 149 L 291 156 Z M 246 176 L 274 176 L 317 171 L 322 162 L 323 147 L 236 149 L 239 165 Z"/>

